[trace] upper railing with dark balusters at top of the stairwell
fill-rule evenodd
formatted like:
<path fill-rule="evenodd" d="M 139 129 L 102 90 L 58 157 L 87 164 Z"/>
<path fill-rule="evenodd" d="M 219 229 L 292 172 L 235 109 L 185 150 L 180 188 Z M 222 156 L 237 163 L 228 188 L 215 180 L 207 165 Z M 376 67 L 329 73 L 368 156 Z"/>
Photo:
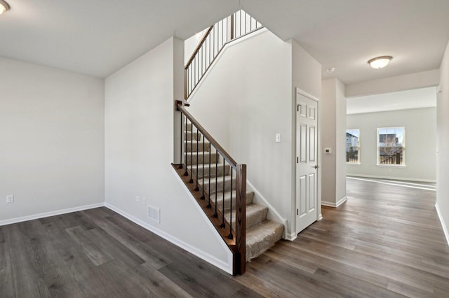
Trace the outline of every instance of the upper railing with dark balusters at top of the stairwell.
<path fill-rule="evenodd" d="M 185 99 L 194 92 L 225 45 L 263 26 L 243 10 L 210 26 L 185 65 Z"/>

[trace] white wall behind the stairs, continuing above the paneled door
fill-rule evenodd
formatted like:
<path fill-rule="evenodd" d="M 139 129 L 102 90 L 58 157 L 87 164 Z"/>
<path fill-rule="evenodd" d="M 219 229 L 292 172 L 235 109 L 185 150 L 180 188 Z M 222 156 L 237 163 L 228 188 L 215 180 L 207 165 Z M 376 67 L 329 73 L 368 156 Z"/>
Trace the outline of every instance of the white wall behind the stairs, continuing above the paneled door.
<path fill-rule="evenodd" d="M 266 29 L 243 40 L 225 48 L 192 95 L 189 111 L 237 162 L 248 165 L 250 183 L 288 220 L 287 232 L 294 232 L 293 94 L 301 87 L 319 97 L 321 66 Z M 275 143 L 276 133 L 281 143 Z"/>

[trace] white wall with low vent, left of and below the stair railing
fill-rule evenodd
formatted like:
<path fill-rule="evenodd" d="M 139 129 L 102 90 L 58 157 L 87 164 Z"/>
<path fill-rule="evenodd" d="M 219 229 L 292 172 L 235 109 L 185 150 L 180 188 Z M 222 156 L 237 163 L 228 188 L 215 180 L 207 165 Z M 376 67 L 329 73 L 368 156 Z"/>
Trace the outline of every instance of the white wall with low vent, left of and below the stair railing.
<path fill-rule="evenodd" d="M 106 78 L 106 203 L 231 272 L 230 250 L 170 165 L 183 47 L 182 41 L 170 38 Z M 147 206 L 160 208 L 160 223 L 148 218 Z"/>

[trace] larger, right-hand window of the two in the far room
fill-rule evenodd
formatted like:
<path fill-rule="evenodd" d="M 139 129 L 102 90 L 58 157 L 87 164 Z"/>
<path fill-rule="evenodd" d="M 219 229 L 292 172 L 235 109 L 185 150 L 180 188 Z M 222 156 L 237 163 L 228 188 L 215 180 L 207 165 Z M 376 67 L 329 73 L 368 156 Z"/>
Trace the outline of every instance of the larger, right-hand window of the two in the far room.
<path fill-rule="evenodd" d="M 405 127 L 377 128 L 377 164 L 406 165 Z"/>

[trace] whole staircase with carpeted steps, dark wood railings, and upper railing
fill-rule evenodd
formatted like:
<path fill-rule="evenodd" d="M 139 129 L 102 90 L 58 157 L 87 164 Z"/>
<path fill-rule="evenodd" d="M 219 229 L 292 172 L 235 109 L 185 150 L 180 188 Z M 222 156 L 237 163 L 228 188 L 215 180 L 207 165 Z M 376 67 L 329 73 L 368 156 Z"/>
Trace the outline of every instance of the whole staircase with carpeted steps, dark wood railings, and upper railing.
<path fill-rule="evenodd" d="M 246 191 L 246 164 L 237 164 L 185 107 L 225 45 L 261 28 L 243 10 L 210 26 L 185 66 L 185 101 L 175 104 L 180 164 L 173 169 L 232 251 L 233 275 L 243 274 L 246 262 L 274 246 L 284 226 L 267 220 L 268 208 L 253 203 L 254 192 Z"/>

